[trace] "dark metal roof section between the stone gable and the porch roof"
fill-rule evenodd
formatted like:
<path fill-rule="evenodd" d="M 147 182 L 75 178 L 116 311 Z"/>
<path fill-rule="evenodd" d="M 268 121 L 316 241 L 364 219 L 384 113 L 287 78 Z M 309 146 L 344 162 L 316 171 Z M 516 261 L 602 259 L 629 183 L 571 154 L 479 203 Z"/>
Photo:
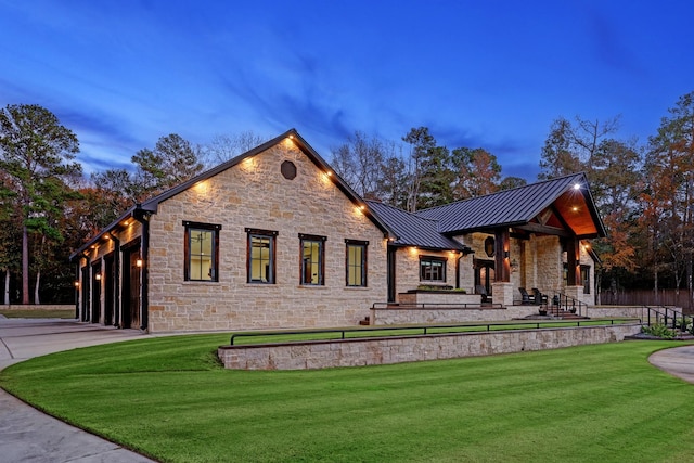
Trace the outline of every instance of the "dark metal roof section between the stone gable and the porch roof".
<path fill-rule="evenodd" d="M 439 233 L 438 221 L 419 217 L 376 201 L 367 201 L 371 210 L 395 232 L 393 244 L 430 249 L 463 250 L 465 245 Z"/>

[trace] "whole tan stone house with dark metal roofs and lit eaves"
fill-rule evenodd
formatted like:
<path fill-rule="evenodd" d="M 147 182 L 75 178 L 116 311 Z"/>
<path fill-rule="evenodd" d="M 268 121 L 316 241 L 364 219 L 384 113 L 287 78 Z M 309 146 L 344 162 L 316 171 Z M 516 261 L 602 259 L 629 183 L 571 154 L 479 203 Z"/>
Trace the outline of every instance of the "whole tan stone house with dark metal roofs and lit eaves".
<path fill-rule="evenodd" d="M 584 176 L 510 192 L 415 215 L 365 202 L 292 129 L 77 249 L 77 309 L 172 332 L 355 325 L 422 284 L 464 288 L 478 306 L 480 288 L 514 305 L 516 286 L 588 301 L 594 255 L 581 243 L 604 229 Z"/>

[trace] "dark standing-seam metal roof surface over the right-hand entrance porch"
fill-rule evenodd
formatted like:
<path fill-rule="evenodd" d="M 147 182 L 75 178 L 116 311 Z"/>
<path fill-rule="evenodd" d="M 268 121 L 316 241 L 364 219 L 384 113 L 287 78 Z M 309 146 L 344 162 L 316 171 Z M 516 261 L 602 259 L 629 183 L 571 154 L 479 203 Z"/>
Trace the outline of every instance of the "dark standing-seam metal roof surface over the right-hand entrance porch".
<path fill-rule="evenodd" d="M 438 231 L 457 234 L 498 227 L 514 227 L 529 223 L 540 213 L 552 206 L 562 195 L 580 185 L 580 202 L 587 209 L 583 221 L 590 221 L 595 236 L 604 236 L 605 229 L 596 211 L 583 173 L 574 173 L 512 190 L 459 201 L 445 206 L 416 213 L 419 217 L 438 220 Z M 580 234 L 580 233 L 577 233 Z"/>

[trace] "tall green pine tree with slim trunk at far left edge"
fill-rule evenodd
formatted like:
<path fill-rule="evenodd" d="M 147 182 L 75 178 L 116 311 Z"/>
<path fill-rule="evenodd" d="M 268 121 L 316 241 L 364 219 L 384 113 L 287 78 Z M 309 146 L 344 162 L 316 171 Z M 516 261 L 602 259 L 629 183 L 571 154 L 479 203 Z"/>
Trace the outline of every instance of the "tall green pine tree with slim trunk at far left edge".
<path fill-rule="evenodd" d="M 50 111 L 33 104 L 8 105 L 0 112 L 0 169 L 14 189 L 21 209 L 22 304 L 29 304 L 29 233 L 60 239 L 50 216 L 60 214 L 70 193 L 67 179 L 81 172 L 70 160 L 77 137 Z"/>

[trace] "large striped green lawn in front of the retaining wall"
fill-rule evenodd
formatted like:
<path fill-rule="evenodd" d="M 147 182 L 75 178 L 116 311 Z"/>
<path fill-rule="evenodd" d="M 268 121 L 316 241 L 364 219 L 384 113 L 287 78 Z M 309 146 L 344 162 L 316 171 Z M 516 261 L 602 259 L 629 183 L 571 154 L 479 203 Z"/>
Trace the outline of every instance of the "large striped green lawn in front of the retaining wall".
<path fill-rule="evenodd" d="M 627 342 L 384 366 L 226 371 L 229 335 L 77 349 L 0 373 L 50 413 L 170 462 L 670 462 L 694 385 Z"/>

